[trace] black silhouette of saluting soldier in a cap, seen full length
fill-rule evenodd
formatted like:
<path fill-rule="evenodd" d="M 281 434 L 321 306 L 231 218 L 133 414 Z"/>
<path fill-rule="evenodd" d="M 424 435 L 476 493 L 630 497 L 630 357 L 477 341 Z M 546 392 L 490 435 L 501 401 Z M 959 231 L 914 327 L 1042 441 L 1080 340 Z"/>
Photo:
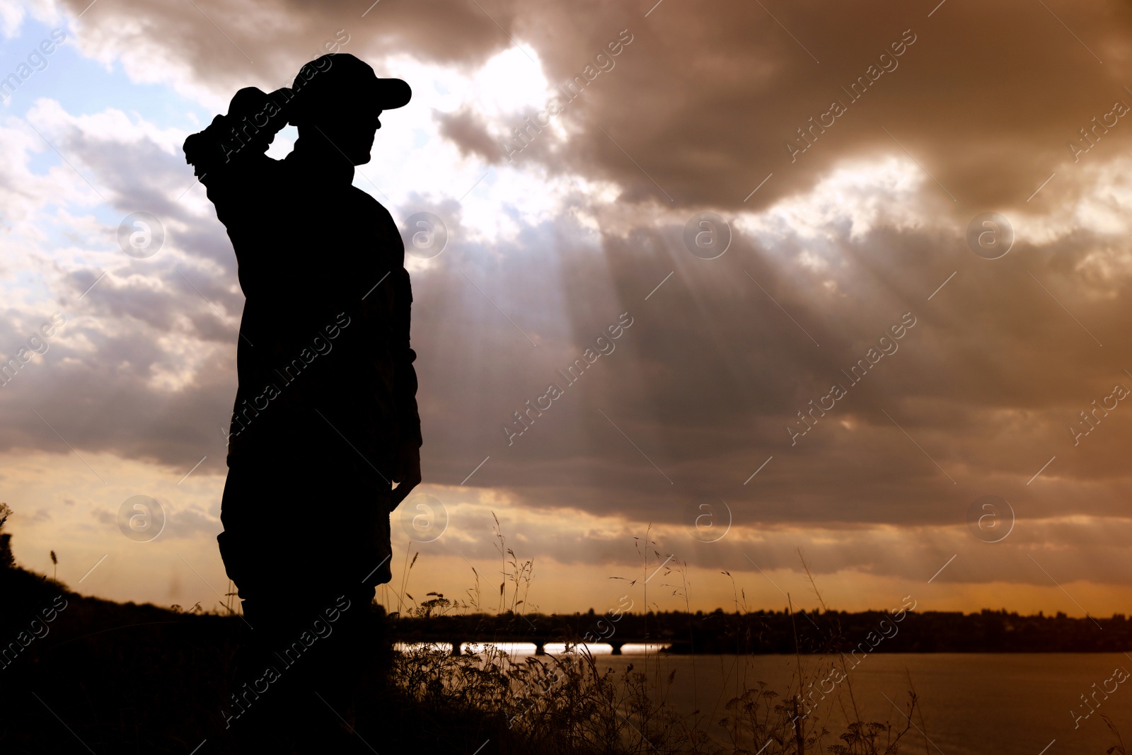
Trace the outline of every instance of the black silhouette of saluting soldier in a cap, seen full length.
<path fill-rule="evenodd" d="M 381 111 L 410 97 L 353 55 L 324 55 L 291 89 L 241 89 L 185 143 L 247 298 L 218 541 L 252 627 L 230 723 L 256 752 L 273 752 L 265 737 L 290 752 L 285 729 L 312 717 L 350 719 L 366 615 L 391 578 L 388 515 L 420 482 L 404 246 L 351 186 Z M 294 151 L 272 160 L 288 122 Z M 337 736 L 324 728 L 315 746 L 337 752 Z"/>

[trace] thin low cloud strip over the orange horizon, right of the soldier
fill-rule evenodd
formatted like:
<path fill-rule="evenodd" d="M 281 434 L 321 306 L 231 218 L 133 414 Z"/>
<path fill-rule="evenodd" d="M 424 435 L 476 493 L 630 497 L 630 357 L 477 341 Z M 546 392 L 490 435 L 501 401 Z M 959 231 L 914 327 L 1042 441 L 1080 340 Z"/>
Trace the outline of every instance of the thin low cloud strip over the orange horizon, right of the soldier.
<path fill-rule="evenodd" d="M 463 533 L 479 531 L 487 535 L 491 532 L 491 520 L 490 516 L 460 517 L 453 520 L 451 527 Z M 506 521 L 504 527 L 509 535 L 522 535 L 517 550 L 523 558 L 549 557 L 572 566 L 623 565 L 614 573 L 628 573 L 631 578 L 633 566 L 625 566 L 626 552 L 633 552 L 629 543 L 634 535 L 644 535 L 643 524 L 632 531 L 558 530 Z M 947 564 L 947 568 L 934 580 L 941 585 L 1005 582 L 1053 586 L 1050 575 L 1066 584 L 1090 580 L 1110 584 L 1132 582 L 1127 572 L 1118 567 L 1130 534 L 1126 522 L 1112 523 L 1107 527 L 1099 527 L 1096 522 L 1069 525 L 1026 522 L 1019 523 L 996 543 L 981 542 L 970 537 L 966 529 L 941 534 L 938 529 L 917 526 L 878 531 L 851 526 L 815 530 L 772 525 L 761 527 L 757 533 L 731 531 L 718 542 L 697 541 L 683 529 L 658 530 L 654 526 L 650 534 L 650 541 L 654 543 L 653 552 L 661 554 L 655 564 L 671 555 L 674 561 L 668 563 L 669 568 L 687 561 L 701 569 L 734 573 L 751 572 L 756 567 L 766 572 L 800 570 L 801 558 L 805 558 L 812 573 L 818 576 L 850 570 L 916 582 L 926 582 Z M 1057 544 L 1053 546 L 1055 542 Z M 413 547 L 421 548 L 426 556 L 497 557 L 497 551 L 492 552 L 490 537 L 456 541 L 446 534 L 436 542 Z M 952 556 L 955 558 L 949 563 Z M 663 570 L 660 574 L 668 576 Z M 762 582 L 763 577 L 756 575 L 756 580 Z M 671 582 L 671 578 L 657 580 L 652 584 L 662 586 L 664 582 Z M 770 587 L 770 584 L 764 583 L 764 586 Z"/>

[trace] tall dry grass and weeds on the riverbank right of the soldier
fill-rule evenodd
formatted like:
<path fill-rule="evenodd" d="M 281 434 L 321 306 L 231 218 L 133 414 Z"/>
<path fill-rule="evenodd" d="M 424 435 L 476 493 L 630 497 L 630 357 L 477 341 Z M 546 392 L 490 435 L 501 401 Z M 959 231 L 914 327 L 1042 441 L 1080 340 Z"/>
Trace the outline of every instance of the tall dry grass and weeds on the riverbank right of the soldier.
<path fill-rule="evenodd" d="M 532 560 L 520 559 L 506 546 L 498 518 L 495 521 L 496 549 L 500 555 L 503 581 L 497 603 L 499 612 L 511 611 L 522 617 L 528 608 L 534 580 Z M 675 595 L 691 608 L 691 585 L 686 561 L 664 558 L 651 539 L 651 531 L 634 539 L 641 560 L 641 575 L 612 577 L 624 580 L 629 590 L 638 590 L 644 610 L 659 610 L 650 602 L 650 582 L 658 592 Z M 816 581 L 799 551 L 811 590 L 823 610 L 829 610 L 817 589 Z M 466 600 L 449 600 L 440 593 L 429 592 L 428 600 L 418 603 L 409 593 L 412 565 L 408 551 L 408 568 L 402 576 L 402 595 L 398 616 L 429 618 L 482 608 L 481 575 L 470 565 L 474 586 L 468 589 Z M 752 614 L 745 591 L 735 585 L 736 617 Z M 667 580 L 667 582 L 666 582 Z M 788 598 L 794 615 L 792 600 Z M 691 611 L 688 611 L 691 614 Z M 689 626 L 689 633 L 692 627 Z M 744 633 L 747 633 L 746 636 Z M 737 649 L 735 663 L 748 667 L 757 637 L 751 636 L 751 624 L 736 621 Z M 581 638 L 578 638 L 581 640 Z M 688 637 L 691 642 L 693 637 Z M 767 688 L 764 681 L 743 683 L 726 703 L 723 711 L 701 710 L 695 692 L 695 663 L 692 664 L 693 710 L 678 710 L 671 701 L 671 689 L 677 684 L 677 670 L 668 668 L 664 653 L 646 651 L 620 672 L 606 668 L 585 644 L 567 645 L 558 655 L 520 657 L 508 654 L 494 645 L 470 647 L 464 654 L 453 654 L 446 647 L 415 645 L 395 655 L 389 670 L 389 684 L 403 695 L 405 704 L 415 706 L 434 717 L 447 711 L 454 719 L 478 718 L 495 727 L 497 752 L 567 754 L 734 754 L 734 755 L 895 755 L 914 728 L 914 717 L 919 712 L 917 696 L 911 689 L 900 721 L 867 720 L 857 704 L 851 671 L 846 675 L 843 688 L 832 698 L 837 701 L 848 726 L 837 738 L 816 715 L 807 715 L 804 692 L 822 679 L 826 669 L 839 661 L 844 664 L 840 646 L 840 628 L 822 638 L 823 646 L 803 646 L 795 632 L 796 654 L 792 678 L 781 693 Z M 694 643 L 693 643 L 694 645 Z M 736 677 L 738 679 L 738 672 Z M 902 723 L 901 723 L 902 721 Z M 920 717 L 918 729 L 925 729 Z M 489 726 L 490 728 L 490 726 Z M 926 741 L 925 741 L 926 744 Z"/>

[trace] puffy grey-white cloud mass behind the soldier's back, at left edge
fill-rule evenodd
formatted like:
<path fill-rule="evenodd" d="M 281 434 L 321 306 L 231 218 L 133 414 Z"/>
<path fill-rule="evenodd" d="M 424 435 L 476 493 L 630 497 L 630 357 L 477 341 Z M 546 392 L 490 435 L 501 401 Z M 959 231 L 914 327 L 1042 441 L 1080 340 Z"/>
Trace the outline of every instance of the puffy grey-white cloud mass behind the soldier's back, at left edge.
<path fill-rule="evenodd" d="M 71 229 L 70 242 L 85 250 L 89 267 L 49 257 L 44 275 L 54 300 L 0 320 L 0 354 L 9 360 L 52 312 L 66 320 L 45 340 L 43 355 L 0 388 L 8 417 L 0 447 L 111 452 L 186 470 L 204 454 L 222 458 L 233 327 L 243 307 L 223 226 L 177 200 L 189 186 L 183 156 L 145 137 L 100 137 L 53 113 L 33 115 L 37 128 L 101 187 L 113 214 L 158 215 L 165 246 L 134 259 L 119 248 L 115 226 Z M 191 348 L 178 349 L 185 345 Z"/>

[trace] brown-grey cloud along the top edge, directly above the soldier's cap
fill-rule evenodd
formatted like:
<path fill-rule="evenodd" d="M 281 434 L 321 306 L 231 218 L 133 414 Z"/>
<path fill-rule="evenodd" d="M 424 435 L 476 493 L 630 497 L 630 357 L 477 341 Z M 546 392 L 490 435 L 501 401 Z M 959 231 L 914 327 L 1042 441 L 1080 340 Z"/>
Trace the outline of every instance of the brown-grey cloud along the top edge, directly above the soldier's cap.
<path fill-rule="evenodd" d="M 63 5 L 72 18 L 84 9 L 82 2 Z M 224 93 L 224 100 L 245 86 L 265 91 L 290 86 L 305 62 L 327 50 L 370 59 L 409 52 L 424 60 L 469 65 L 511 45 L 475 3 L 383 0 L 366 12 L 367 5 L 336 0 L 155 6 L 137 0 L 92 8 L 75 25 L 84 50 L 121 57 L 138 68 L 151 58 L 170 69 L 191 70 L 196 83 Z M 522 24 L 503 3 L 491 11 L 504 28 Z"/>

